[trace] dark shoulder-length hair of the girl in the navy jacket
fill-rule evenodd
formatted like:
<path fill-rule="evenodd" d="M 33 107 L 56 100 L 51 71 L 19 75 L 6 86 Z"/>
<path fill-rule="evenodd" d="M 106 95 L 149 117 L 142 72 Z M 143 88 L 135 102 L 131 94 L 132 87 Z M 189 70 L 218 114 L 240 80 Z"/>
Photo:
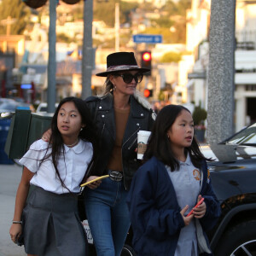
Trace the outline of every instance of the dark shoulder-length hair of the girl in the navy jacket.
<path fill-rule="evenodd" d="M 148 160 L 155 156 L 158 160 L 162 161 L 165 165 L 170 166 L 172 172 L 179 169 L 179 162 L 172 152 L 169 138 L 167 137 L 167 131 L 172 127 L 173 123 L 180 115 L 182 110 L 189 111 L 188 108 L 184 108 L 180 105 L 167 105 L 158 113 L 151 136 L 148 139 L 148 147 L 144 154 L 143 160 Z M 185 154 L 188 154 L 193 165 L 197 168 L 201 167 L 201 160 L 208 160 L 203 154 L 199 145 L 193 137 L 192 143 L 189 148 L 185 148 Z"/>

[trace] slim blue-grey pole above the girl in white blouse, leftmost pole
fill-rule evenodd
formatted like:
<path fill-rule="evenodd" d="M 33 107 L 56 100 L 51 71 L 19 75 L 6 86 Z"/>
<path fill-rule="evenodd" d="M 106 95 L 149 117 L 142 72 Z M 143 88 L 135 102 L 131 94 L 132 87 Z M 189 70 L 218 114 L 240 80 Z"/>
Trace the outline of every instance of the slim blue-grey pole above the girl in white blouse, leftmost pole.
<path fill-rule="evenodd" d="M 55 112 L 56 100 L 56 6 L 58 0 L 49 0 L 49 57 L 48 57 L 48 89 L 47 112 Z"/>

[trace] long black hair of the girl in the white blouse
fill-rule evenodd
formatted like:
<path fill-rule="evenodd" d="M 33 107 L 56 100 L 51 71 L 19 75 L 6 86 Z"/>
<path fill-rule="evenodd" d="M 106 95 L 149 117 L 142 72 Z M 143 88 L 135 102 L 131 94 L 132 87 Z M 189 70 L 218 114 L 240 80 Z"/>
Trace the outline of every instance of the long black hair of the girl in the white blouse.
<path fill-rule="evenodd" d="M 82 139 L 84 141 L 92 143 L 93 146 L 93 157 L 90 163 L 92 163 L 96 155 L 98 153 L 99 147 L 98 147 L 98 139 L 96 135 L 96 125 L 93 122 L 93 119 L 90 115 L 90 110 L 86 107 L 85 102 L 82 99 L 79 99 L 77 97 L 69 96 L 64 98 L 58 105 L 58 108 L 56 108 L 54 116 L 51 120 L 51 136 L 49 138 L 49 147 L 52 148 L 51 154 L 47 155 L 45 154 L 44 160 L 52 157 L 53 165 L 55 166 L 55 172 L 57 177 L 59 177 L 61 181 L 62 187 L 67 189 L 67 186 L 65 183 L 61 180 L 60 172 L 57 168 L 59 156 L 65 152 L 63 140 L 61 137 L 61 132 L 58 129 L 57 126 L 57 119 L 58 119 L 58 113 L 61 109 L 61 106 L 66 102 L 73 102 L 75 107 L 78 109 L 81 118 L 82 118 L 82 124 L 85 125 L 85 127 L 79 132 L 79 139 Z M 47 150 L 48 151 L 48 150 Z M 42 162 L 44 161 L 42 160 Z M 90 166 L 90 165 L 89 165 Z M 69 189 L 68 189 L 69 190 Z"/>

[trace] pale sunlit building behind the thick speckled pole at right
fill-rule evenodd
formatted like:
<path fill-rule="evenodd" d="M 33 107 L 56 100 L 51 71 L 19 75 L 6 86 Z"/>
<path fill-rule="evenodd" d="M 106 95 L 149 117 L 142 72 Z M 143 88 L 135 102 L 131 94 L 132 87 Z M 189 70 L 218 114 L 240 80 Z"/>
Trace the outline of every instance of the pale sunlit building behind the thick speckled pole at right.
<path fill-rule="evenodd" d="M 192 9 L 188 12 L 192 18 L 187 26 L 187 49 L 194 51 L 195 57 L 195 64 L 188 74 L 187 101 L 195 102 L 195 105 L 201 103 L 204 108 L 207 108 L 209 2 L 192 1 Z M 240 0 L 236 2 L 235 131 L 240 131 L 244 126 L 256 121 L 253 109 L 256 106 L 256 3 L 254 2 Z"/>

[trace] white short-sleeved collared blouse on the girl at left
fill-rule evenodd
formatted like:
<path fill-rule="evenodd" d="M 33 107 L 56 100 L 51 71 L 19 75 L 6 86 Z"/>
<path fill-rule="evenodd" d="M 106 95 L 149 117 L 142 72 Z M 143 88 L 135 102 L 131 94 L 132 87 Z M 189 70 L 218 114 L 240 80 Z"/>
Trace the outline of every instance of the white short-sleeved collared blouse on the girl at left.
<path fill-rule="evenodd" d="M 31 184 L 55 194 L 69 193 L 66 188 L 61 186 L 61 181 L 55 173 L 51 156 L 40 165 L 41 160 L 44 159 L 47 147 L 48 143 L 42 139 L 32 143 L 29 150 L 20 159 L 20 164 L 35 173 L 30 181 Z M 64 148 L 65 155 L 61 154 L 59 156 L 58 171 L 60 172 L 61 180 L 67 188 L 73 193 L 79 193 L 79 184 L 82 182 L 92 159 L 92 144 L 80 139 L 79 143 L 73 148 L 68 148 L 65 144 Z M 51 147 L 49 147 L 47 155 L 50 153 Z"/>

